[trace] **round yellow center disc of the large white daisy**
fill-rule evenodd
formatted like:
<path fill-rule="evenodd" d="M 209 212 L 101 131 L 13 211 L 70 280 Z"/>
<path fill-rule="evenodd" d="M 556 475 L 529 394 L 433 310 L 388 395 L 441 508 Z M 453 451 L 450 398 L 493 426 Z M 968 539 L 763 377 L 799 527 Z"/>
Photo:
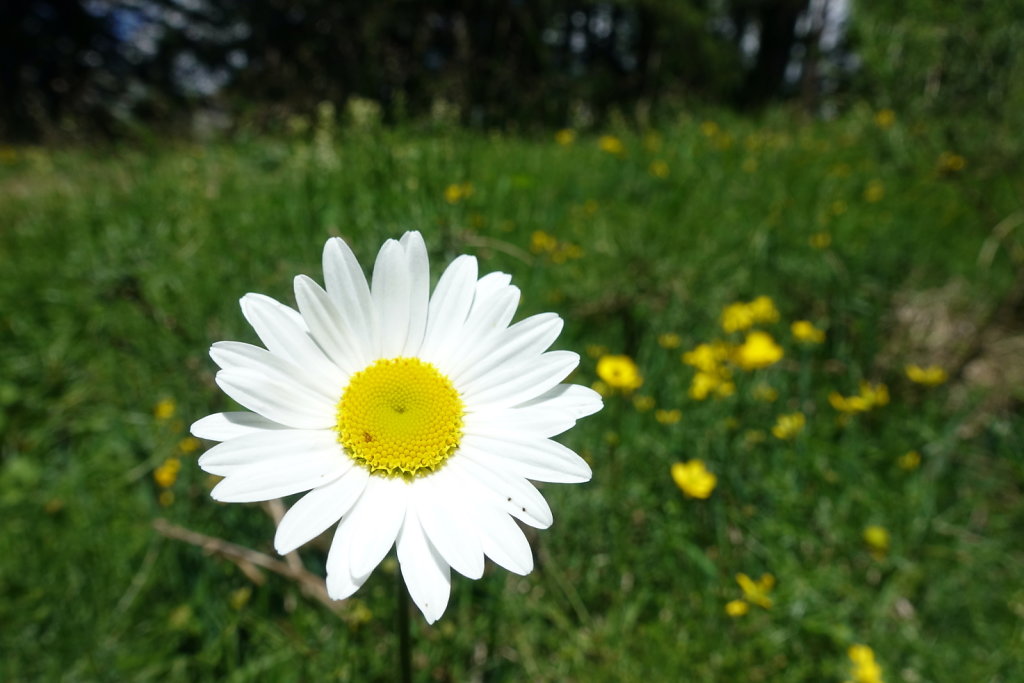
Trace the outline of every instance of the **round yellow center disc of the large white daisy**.
<path fill-rule="evenodd" d="M 381 359 L 349 379 L 338 441 L 372 474 L 428 474 L 459 447 L 463 413 L 452 380 L 429 362 Z"/>

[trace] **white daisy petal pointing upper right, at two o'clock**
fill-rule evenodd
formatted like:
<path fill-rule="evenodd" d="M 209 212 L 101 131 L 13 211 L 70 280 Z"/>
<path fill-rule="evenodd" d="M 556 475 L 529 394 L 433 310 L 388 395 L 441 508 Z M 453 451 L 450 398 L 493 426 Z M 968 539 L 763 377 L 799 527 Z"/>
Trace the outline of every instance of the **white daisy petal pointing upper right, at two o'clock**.
<path fill-rule="evenodd" d="M 452 375 L 452 380 L 468 388 L 496 368 L 534 362 L 561 331 L 562 319 L 555 313 L 531 315 L 500 331 L 490 344 L 481 343 L 475 352 L 471 350 L 461 372 Z"/>

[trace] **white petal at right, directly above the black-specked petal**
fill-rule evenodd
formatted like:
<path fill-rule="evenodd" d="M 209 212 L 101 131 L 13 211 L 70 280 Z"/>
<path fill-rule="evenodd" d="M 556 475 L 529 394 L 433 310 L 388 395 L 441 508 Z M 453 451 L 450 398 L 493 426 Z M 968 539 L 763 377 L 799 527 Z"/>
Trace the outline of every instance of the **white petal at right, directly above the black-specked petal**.
<path fill-rule="evenodd" d="M 546 438 L 465 436 L 461 451 L 478 463 L 514 472 L 535 481 L 590 481 L 590 465 L 571 450 Z"/>

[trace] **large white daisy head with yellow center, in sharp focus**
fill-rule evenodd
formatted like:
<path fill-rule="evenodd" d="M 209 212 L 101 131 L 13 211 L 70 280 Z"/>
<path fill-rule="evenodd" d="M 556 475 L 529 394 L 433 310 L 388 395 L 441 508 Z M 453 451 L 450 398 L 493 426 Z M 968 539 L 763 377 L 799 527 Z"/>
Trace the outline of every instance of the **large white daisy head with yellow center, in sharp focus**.
<path fill-rule="evenodd" d="M 345 243 L 324 248 L 327 289 L 295 279 L 298 310 L 247 294 L 242 312 L 266 349 L 218 342 L 217 384 L 250 412 L 191 427 L 222 443 L 200 466 L 224 479 L 218 501 L 266 501 L 308 490 L 278 527 L 291 552 L 338 523 L 327 561 L 331 597 L 367 580 L 391 546 L 428 623 L 444 612 L 450 568 L 479 579 L 486 555 L 520 574 L 534 567 L 522 529 L 551 525 L 528 479 L 588 481 L 590 467 L 551 440 L 601 409 L 597 393 L 561 381 L 580 356 L 548 351 L 554 313 L 509 325 L 511 276 L 477 278 L 460 256 L 429 292 L 419 232 L 389 240 L 368 286 Z"/>

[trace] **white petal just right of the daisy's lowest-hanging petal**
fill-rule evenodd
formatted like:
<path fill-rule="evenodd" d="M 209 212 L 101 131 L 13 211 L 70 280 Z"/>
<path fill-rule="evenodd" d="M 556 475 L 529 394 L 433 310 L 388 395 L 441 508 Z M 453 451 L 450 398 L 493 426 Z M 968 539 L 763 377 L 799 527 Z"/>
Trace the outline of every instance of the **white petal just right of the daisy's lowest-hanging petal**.
<path fill-rule="evenodd" d="M 451 484 L 446 469 L 416 482 L 414 505 L 430 544 L 444 561 L 459 573 L 479 579 L 483 575 L 483 550 L 466 519 L 466 496 Z"/>

